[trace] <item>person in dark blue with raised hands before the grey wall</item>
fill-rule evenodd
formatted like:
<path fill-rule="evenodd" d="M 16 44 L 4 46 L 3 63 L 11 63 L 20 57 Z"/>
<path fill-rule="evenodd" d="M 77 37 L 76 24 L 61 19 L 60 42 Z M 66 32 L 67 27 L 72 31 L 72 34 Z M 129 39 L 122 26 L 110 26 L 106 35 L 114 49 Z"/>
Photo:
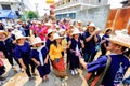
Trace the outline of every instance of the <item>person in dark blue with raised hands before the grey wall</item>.
<path fill-rule="evenodd" d="M 86 62 L 91 62 L 94 59 L 94 56 L 96 55 L 96 43 L 99 42 L 99 35 L 100 30 L 96 30 L 94 24 L 90 24 L 90 26 L 88 26 L 88 30 L 87 32 L 84 32 L 83 34 L 83 39 L 84 39 L 84 60 Z"/>

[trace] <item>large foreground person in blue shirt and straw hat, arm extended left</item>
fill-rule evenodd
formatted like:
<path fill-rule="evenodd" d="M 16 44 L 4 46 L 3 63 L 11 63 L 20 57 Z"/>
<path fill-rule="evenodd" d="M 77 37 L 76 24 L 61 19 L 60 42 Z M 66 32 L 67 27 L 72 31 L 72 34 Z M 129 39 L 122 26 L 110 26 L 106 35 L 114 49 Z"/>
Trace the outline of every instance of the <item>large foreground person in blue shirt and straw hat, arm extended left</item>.
<path fill-rule="evenodd" d="M 107 39 L 109 43 L 109 58 L 112 59 L 109 68 L 107 69 L 103 81 L 101 81 L 102 86 L 119 86 L 122 82 L 123 75 L 128 68 L 130 67 L 129 59 L 123 55 L 127 47 L 130 47 L 130 35 L 122 33 L 121 31 L 116 32 L 116 35 Z M 101 72 L 106 68 L 108 57 L 100 56 L 98 60 L 86 63 L 82 58 L 80 58 L 80 63 L 87 69 L 88 73 Z M 101 72 L 102 73 L 102 72 Z"/>

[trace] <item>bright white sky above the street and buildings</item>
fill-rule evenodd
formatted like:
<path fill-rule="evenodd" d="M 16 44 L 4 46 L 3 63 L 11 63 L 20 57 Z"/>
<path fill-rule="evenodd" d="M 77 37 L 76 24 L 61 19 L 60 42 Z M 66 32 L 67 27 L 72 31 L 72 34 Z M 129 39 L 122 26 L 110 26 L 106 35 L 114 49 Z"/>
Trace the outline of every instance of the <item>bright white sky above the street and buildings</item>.
<path fill-rule="evenodd" d="M 39 12 L 39 15 L 43 15 L 44 13 L 49 13 L 48 10 L 46 9 L 49 9 L 49 4 L 46 3 L 46 0 L 29 0 L 31 5 L 35 8 L 35 3 L 38 3 L 38 12 Z M 55 2 L 58 1 L 58 0 L 55 0 Z M 121 2 L 122 0 L 108 0 L 108 4 L 110 4 L 110 8 L 120 8 Z M 36 8 L 35 10 L 36 11 Z"/>

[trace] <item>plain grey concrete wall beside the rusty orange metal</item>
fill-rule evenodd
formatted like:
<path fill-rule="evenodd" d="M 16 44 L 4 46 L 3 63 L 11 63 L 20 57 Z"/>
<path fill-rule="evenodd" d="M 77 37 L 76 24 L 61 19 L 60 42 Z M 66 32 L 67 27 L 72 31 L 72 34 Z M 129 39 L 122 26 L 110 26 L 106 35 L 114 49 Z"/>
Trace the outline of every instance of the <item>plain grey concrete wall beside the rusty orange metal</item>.
<path fill-rule="evenodd" d="M 109 5 L 104 5 L 78 11 L 76 13 L 76 19 L 83 22 L 83 25 L 87 25 L 87 22 L 92 22 L 96 27 L 105 29 L 108 14 Z"/>

